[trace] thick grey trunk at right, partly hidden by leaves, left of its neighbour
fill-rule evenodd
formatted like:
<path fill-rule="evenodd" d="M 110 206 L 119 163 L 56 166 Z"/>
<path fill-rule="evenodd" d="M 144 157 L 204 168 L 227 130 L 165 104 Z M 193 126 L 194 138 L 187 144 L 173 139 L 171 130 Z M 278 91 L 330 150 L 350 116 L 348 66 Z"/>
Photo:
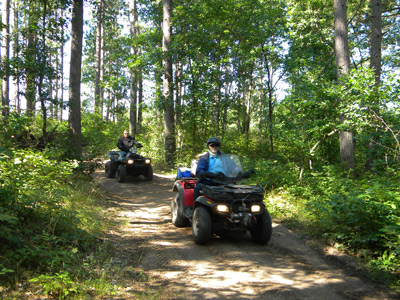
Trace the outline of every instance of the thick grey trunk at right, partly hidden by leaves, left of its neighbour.
<path fill-rule="evenodd" d="M 346 0 L 334 0 L 335 11 L 335 54 L 337 78 L 340 79 L 350 72 L 350 53 L 347 37 L 347 3 Z M 340 99 L 345 101 L 345 99 Z M 346 116 L 340 117 L 344 123 Z M 354 138 L 352 131 L 341 130 L 339 132 L 340 161 L 347 170 L 354 170 Z"/>

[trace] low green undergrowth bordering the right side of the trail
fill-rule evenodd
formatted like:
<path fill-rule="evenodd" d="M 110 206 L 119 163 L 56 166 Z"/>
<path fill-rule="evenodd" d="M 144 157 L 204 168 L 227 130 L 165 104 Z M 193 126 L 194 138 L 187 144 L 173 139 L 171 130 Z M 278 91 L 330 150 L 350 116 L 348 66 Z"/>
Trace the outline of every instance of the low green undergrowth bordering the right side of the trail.
<path fill-rule="evenodd" d="M 277 177 L 287 176 L 284 167 L 277 170 L 281 172 Z M 400 274 L 399 179 L 397 172 L 353 179 L 337 168 L 324 167 L 308 174 L 301 186 L 282 184 L 266 201 L 275 217 L 355 253 L 396 282 Z"/>

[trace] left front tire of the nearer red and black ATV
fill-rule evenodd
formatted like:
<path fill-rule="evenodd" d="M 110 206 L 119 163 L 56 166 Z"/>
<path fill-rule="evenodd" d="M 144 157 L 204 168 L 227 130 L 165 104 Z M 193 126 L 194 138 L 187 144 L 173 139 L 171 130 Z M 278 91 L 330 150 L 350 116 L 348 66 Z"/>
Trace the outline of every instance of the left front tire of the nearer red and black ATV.
<path fill-rule="evenodd" d="M 193 238 L 196 244 L 205 245 L 211 238 L 211 216 L 206 208 L 199 206 L 194 210 L 192 220 Z"/>

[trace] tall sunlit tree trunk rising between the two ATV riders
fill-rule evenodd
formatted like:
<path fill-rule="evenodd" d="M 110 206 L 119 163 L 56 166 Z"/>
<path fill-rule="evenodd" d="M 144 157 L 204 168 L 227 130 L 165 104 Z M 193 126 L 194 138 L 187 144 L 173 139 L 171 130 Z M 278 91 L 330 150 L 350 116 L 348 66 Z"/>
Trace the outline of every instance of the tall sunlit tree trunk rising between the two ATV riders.
<path fill-rule="evenodd" d="M 175 164 L 174 101 L 172 94 L 172 57 L 168 53 L 171 43 L 172 0 L 163 0 L 163 102 L 164 102 L 164 142 L 165 161 L 169 167 Z"/>

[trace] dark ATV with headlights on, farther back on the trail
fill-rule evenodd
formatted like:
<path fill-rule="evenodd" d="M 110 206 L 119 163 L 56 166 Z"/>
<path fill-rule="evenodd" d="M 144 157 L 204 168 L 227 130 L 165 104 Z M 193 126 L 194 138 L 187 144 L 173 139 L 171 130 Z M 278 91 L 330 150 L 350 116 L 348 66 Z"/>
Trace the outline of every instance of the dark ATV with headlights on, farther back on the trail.
<path fill-rule="evenodd" d="M 117 176 L 118 182 L 121 183 L 125 182 L 129 175 L 134 177 L 143 175 L 146 180 L 153 180 L 151 159 L 138 154 L 136 147 L 141 148 L 141 145 L 139 143 L 133 145 L 122 160 L 119 160 L 119 151 L 108 151 L 110 160 L 105 164 L 105 175 L 108 178 Z"/>

